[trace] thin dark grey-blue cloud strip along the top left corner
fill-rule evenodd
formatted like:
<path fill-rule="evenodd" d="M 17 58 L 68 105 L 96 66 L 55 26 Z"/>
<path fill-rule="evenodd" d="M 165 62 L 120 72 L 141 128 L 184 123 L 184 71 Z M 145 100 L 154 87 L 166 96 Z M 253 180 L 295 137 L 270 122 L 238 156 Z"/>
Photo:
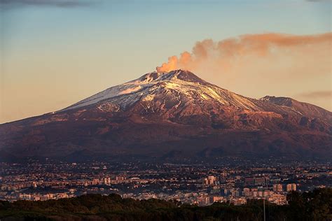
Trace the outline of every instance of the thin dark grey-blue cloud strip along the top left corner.
<path fill-rule="evenodd" d="M 61 8 L 75 8 L 89 6 L 96 1 L 83 0 L 0 0 L 0 6 L 54 6 Z"/>

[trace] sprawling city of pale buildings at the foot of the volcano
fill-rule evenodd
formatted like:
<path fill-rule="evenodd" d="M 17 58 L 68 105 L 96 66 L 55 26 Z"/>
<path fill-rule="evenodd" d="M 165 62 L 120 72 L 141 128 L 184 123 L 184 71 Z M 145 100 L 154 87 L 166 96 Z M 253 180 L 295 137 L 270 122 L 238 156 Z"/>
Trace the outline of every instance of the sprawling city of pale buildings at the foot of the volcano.
<path fill-rule="evenodd" d="M 32 161 L 0 165 L 0 200 L 7 201 L 116 193 L 123 198 L 177 200 L 198 206 L 214 202 L 240 205 L 248 199 L 282 205 L 291 191 L 332 185 L 332 167 L 315 162 L 211 166 Z"/>

